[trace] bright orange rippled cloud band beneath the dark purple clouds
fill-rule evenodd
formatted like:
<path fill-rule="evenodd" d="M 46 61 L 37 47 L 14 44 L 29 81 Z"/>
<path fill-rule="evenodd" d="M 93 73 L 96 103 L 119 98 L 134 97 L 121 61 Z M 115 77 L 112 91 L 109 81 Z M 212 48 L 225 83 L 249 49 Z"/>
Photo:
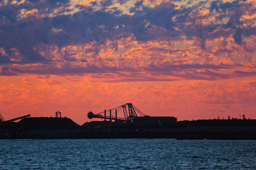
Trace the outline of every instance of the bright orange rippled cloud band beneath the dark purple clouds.
<path fill-rule="evenodd" d="M 174 41 L 173 41 L 174 40 Z M 205 42 L 201 48 L 196 38 L 182 36 L 170 41 L 137 41 L 134 36 L 106 41 L 68 45 L 35 46 L 36 52 L 51 62 L 37 64 L 10 64 L 10 69 L 20 73 L 36 74 L 93 74 L 106 73 L 111 81 L 157 80 L 212 80 L 236 76 L 234 68 L 246 71 L 244 66 L 252 66 L 253 38 L 246 46 L 234 43 L 232 36 L 217 37 Z M 220 46 L 221 44 L 221 46 Z M 4 52 L 4 49 L 2 49 Z M 237 63 L 243 65 L 236 66 Z M 251 65 L 250 65 L 251 64 Z M 2 68 L 3 69 L 3 68 Z M 6 70 L 6 69 L 5 69 Z M 253 67 L 250 72 L 253 72 Z M 4 71 L 4 69 L 3 69 Z M 8 71 L 8 69 L 6 70 Z M 134 77 L 134 71 L 145 77 Z M 141 74 L 141 75 L 142 75 Z M 127 75 L 130 79 L 125 78 Z M 115 80 L 116 79 L 116 80 Z M 159 81 L 157 80 L 157 81 Z M 104 80 L 100 80 L 104 81 Z"/>

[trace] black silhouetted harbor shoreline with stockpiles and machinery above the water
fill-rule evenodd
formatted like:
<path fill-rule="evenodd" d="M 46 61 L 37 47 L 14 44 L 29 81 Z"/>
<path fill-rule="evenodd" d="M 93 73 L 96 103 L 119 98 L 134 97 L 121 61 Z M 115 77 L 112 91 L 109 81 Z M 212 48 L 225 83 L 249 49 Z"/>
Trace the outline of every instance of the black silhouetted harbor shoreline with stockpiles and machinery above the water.
<path fill-rule="evenodd" d="M 177 121 L 175 117 L 150 117 L 126 103 L 96 114 L 89 111 L 87 116 L 97 121 L 78 125 L 61 117 L 61 111 L 55 111 L 55 117 L 25 115 L 12 120 L 1 115 L 0 139 L 256 139 L 256 120 L 244 115 L 240 119 Z"/>

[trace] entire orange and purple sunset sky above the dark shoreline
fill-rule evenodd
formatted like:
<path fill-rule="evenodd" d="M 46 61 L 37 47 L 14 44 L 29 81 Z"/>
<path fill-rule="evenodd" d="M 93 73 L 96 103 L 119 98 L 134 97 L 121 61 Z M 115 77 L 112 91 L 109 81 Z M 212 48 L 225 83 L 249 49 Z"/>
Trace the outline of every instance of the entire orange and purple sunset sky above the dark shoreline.
<path fill-rule="evenodd" d="M 0 0 L 0 113 L 256 118 L 255 50 L 255 0 Z"/>

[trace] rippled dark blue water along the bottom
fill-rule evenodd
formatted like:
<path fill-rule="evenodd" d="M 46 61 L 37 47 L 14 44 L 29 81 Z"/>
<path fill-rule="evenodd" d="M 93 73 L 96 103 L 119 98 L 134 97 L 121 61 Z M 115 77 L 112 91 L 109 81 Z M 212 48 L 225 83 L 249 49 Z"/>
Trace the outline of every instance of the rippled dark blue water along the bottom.
<path fill-rule="evenodd" d="M 0 169 L 256 169 L 256 141 L 0 140 Z"/>

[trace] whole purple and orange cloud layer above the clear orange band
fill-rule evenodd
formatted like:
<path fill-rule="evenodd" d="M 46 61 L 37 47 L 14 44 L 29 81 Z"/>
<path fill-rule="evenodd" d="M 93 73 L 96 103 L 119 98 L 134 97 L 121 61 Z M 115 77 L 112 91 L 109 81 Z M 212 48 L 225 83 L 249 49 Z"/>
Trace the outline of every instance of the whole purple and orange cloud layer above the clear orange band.
<path fill-rule="evenodd" d="M 108 73 L 122 81 L 143 73 L 218 80 L 253 75 L 239 74 L 248 66 L 255 71 L 253 1 L 4 2 L 4 76 Z"/>

